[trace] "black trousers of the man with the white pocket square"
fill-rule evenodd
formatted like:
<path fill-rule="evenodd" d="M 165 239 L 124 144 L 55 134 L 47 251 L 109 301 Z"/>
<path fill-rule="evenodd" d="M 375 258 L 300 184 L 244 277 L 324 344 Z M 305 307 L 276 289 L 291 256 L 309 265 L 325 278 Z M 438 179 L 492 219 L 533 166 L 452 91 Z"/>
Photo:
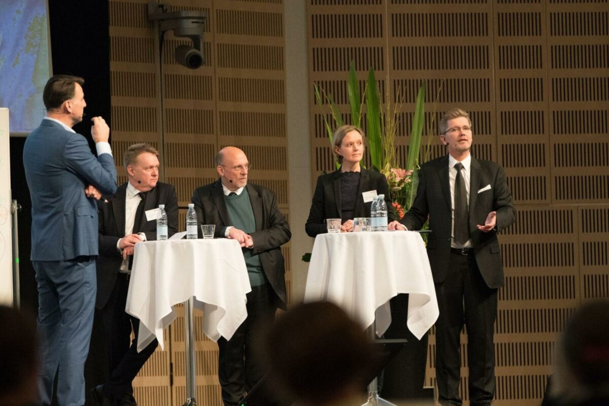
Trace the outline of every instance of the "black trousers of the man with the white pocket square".
<path fill-rule="evenodd" d="M 451 253 L 448 275 L 435 284 L 440 315 L 435 322 L 435 375 L 442 405 L 460 405 L 460 334 L 465 323 L 470 368 L 470 405 L 488 404 L 495 396 L 497 289 L 482 279 L 473 255 Z"/>

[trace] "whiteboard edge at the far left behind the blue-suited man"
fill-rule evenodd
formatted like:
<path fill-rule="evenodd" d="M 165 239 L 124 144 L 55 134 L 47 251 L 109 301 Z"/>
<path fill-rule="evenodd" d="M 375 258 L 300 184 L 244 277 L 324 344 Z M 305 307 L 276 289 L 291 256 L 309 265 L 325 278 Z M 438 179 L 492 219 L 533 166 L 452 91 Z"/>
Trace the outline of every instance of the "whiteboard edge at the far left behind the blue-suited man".
<path fill-rule="evenodd" d="M 0 107 L 0 304 L 13 305 L 9 109 Z"/>

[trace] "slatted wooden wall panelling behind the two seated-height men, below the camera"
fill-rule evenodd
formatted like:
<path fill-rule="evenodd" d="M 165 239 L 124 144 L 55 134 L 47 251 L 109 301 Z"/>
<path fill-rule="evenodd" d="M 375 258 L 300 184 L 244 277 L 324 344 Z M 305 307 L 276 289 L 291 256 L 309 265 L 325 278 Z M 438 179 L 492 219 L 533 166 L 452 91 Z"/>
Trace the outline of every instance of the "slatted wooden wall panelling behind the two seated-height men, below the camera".
<path fill-rule="evenodd" d="M 196 187 L 217 179 L 214 157 L 226 145 L 240 147 L 253 170 L 250 182 L 276 192 L 289 216 L 285 125 L 283 1 L 167 0 L 169 11 L 197 10 L 208 15 L 199 69 L 175 61 L 174 49 L 189 44 L 167 32 L 163 43 L 164 110 L 156 33 L 147 17 L 147 0 L 110 0 L 112 147 L 119 183 L 127 180 L 122 154 L 134 142 L 164 149 L 161 179 L 175 186 L 180 229 Z M 165 139 L 161 145 L 161 114 Z M 290 294 L 290 244 L 282 247 Z M 181 405 L 186 398 L 183 307 L 134 382 L 138 404 Z M 197 404 L 221 403 L 217 345 L 202 334 L 195 310 Z"/>

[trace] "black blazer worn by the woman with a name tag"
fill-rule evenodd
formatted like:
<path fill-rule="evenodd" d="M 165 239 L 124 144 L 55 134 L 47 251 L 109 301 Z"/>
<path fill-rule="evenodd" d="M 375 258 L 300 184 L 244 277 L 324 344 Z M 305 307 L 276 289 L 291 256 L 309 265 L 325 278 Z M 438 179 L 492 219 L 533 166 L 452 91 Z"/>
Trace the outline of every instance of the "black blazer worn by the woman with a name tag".
<path fill-rule="evenodd" d="M 391 205 L 389 195 L 389 185 L 385 175 L 367 169 L 361 169 L 359 185 L 357 186 L 357 200 L 355 203 L 354 217 L 370 217 L 371 201 L 364 203 L 362 193 L 376 191 L 379 195 L 385 195 L 387 203 L 387 221 L 395 220 L 395 211 Z M 317 234 L 328 233 L 326 219 L 342 218 L 340 209 L 340 169 L 332 173 L 320 175 L 317 178 L 317 186 L 311 202 L 309 218 L 306 220 L 306 233 L 309 237 L 316 237 Z"/>

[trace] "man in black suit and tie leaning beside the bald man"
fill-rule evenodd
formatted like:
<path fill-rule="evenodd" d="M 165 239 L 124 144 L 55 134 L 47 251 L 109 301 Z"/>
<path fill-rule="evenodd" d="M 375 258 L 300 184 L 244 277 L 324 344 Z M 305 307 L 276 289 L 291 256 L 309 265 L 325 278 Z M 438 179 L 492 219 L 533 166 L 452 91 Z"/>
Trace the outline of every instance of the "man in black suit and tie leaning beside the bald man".
<path fill-rule="evenodd" d="M 175 188 L 158 181 L 158 151 L 149 144 L 131 145 L 124 158 L 127 182 L 99 205 L 99 258 L 96 307 L 101 315 L 110 377 L 93 388 L 100 406 L 135 405 L 132 381 L 155 351 L 154 340 L 137 351 L 139 320 L 125 312 L 135 244 L 157 239 L 158 205 L 165 205 L 169 236 L 178 229 Z M 129 343 L 131 332 L 135 334 Z"/>

